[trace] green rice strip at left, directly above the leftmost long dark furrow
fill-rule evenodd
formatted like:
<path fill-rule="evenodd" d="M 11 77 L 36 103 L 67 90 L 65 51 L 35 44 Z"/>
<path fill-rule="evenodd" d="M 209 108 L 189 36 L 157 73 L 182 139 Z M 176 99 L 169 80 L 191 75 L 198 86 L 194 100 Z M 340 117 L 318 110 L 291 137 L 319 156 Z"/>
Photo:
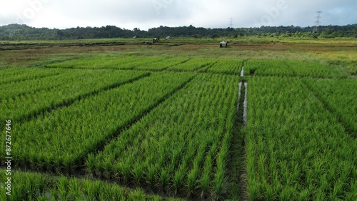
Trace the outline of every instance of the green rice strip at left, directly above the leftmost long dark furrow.
<path fill-rule="evenodd" d="M 47 71 L 56 71 L 56 69 Z M 3 108 L 3 110 L 0 114 L 0 120 L 22 120 L 31 115 L 37 115 L 42 110 L 48 110 L 57 105 L 74 101 L 81 96 L 101 91 L 109 86 L 118 86 L 121 83 L 149 75 L 147 72 L 136 71 L 70 71 L 72 73 L 71 76 L 66 76 L 65 74 L 65 77 L 60 76 L 59 79 L 56 79 L 56 76 L 51 76 L 40 82 L 34 80 L 33 83 L 15 83 L 20 91 L 21 88 L 24 88 L 29 90 L 29 93 L 1 98 L 0 108 Z M 52 79 L 53 81 L 51 81 Z M 51 86 L 52 83 L 48 84 L 46 83 L 47 81 L 54 83 L 54 85 Z M 31 92 L 31 88 L 29 87 L 34 86 L 34 84 L 39 84 L 37 88 L 43 89 Z M 51 88 L 47 88 L 46 86 L 51 86 Z M 3 90 L 11 91 L 9 88 L 3 88 Z"/>

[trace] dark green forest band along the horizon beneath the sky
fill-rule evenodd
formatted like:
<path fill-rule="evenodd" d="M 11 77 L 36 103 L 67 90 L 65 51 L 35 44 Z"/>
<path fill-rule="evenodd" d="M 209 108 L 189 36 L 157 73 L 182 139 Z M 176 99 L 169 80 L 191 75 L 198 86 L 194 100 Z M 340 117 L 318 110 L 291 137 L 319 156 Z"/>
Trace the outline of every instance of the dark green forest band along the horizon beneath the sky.
<path fill-rule="evenodd" d="M 168 27 L 159 26 L 148 31 L 135 28 L 121 29 L 117 26 L 76 27 L 71 29 L 34 28 L 27 25 L 9 24 L 0 26 L 0 40 L 63 40 L 90 38 L 164 38 L 194 37 L 194 38 L 237 38 L 241 36 L 271 36 L 271 37 L 302 37 L 302 38 L 338 38 L 357 37 L 357 24 L 346 26 L 319 26 L 313 33 L 313 27 L 300 26 L 261 26 L 259 28 L 226 28 L 206 29 L 194 26 Z"/>

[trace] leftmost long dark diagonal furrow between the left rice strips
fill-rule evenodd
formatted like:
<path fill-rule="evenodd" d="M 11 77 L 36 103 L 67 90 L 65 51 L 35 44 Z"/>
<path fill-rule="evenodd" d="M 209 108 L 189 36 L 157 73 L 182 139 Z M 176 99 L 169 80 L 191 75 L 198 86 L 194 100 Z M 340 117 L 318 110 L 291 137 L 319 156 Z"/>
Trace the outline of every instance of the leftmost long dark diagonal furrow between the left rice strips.
<path fill-rule="evenodd" d="M 128 83 L 133 83 L 135 81 L 138 81 L 141 78 L 145 78 L 145 77 L 150 76 L 150 75 L 151 75 L 151 73 L 144 73 L 143 75 L 137 76 L 135 78 L 131 78 L 128 81 L 124 81 L 122 83 L 114 83 L 114 84 L 111 84 L 109 86 L 105 86 L 103 88 L 99 88 L 99 89 L 96 89 L 94 91 L 91 91 L 89 93 L 84 93 L 84 94 L 81 94 L 81 95 L 76 96 L 74 98 L 69 98 L 68 100 L 64 100 L 63 102 L 58 103 L 56 105 L 51 105 L 50 107 L 40 108 L 39 110 L 36 110 L 36 111 L 34 111 L 32 113 L 29 113 L 27 115 L 23 115 L 23 116 L 14 118 L 14 121 L 18 122 L 18 123 L 24 123 L 26 121 L 31 120 L 31 118 L 36 118 L 37 116 L 39 116 L 41 114 L 51 113 L 52 110 L 57 110 L 59 108 L 68 107 L 69 105 L 73 104 L 75 101 L 82 100 L 82 99 L 88 98 L 90 96 L 95 96 L 96 94 L 100 93 L 101 91 L 108 91 L 108 90 L 111 90 L 113 88 L 118 88 L 120 86 L 126 85 Z"/>

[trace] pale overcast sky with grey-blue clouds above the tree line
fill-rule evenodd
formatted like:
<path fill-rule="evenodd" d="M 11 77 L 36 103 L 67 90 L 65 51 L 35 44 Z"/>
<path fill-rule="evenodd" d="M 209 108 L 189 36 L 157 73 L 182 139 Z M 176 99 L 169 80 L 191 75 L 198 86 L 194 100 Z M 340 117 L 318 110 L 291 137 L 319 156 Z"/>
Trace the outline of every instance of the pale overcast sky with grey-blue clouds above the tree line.
<path fill-rule="evenodd" d="M 1 0 L 0 26 L 205 28 L 357 24 L 356 0 Z"/>

